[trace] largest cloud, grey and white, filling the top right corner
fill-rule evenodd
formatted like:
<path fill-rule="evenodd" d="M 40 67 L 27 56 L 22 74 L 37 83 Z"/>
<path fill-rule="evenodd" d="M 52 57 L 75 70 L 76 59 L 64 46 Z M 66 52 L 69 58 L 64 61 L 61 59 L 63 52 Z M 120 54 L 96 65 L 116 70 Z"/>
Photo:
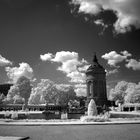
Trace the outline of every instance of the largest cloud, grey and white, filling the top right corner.
<path fill-rule="evenodd" d="M 71 3 L 79 5 L 79 13 L 95 16 L 112 10 L 117 16 L 113 23 L 116 33 L 131 31 L 132 26 L 140 28 L 139 0 L 71 0 Z"/>

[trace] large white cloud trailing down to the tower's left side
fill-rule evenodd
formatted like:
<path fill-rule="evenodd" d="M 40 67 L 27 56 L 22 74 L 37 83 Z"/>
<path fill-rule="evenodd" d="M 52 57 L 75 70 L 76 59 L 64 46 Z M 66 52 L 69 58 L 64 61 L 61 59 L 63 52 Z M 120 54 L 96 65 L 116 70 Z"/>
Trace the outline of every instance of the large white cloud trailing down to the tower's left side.
<path fill-rule="evenodd" d="M 45 55 L 48 58 L 48 54 Z M 46 60 L 44 59 L 44 61 L 58 63 L 59 66 L 57 70 L 65 73 L 66 76 L 70 78 L 70 82 L 83 83 L 85 81 L 84 72 L 88 67 L 88 62 L 85 59 L 80 60 L 77 52 L 60 51 L 56 52 L 55 55 L 51 54 L 49 56 L 51 57 Z"/>

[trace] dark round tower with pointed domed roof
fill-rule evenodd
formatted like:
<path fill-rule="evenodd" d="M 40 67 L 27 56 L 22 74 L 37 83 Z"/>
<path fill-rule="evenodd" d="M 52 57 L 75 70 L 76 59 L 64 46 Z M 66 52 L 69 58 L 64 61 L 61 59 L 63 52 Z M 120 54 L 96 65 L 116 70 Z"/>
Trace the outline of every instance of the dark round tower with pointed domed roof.
<path fill-rule="evenodd" d="M 105 69 L 98 63 L 96 54 L 94 54 L 92 64 L 86 71 L 87 84 L 87 105 L 91 99 L 94 99 L 97 106 L 107 105 L 106 91 L 106 72 Z"/>

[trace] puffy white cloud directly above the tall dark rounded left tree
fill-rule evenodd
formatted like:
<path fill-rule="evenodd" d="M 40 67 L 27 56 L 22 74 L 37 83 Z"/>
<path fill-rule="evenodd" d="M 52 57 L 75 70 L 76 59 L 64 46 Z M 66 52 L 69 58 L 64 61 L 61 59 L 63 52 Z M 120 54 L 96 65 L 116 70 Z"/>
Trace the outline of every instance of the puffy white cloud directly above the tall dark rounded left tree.
<path fill-rule="evenodd" d="M 26 76 L 31 79 L 33 77 L 33 69 L 27 63 L 20 63 L 19 67 L 6 67 L 7 76 L 12 82 L 16 82 L 20 76 Z"/>

